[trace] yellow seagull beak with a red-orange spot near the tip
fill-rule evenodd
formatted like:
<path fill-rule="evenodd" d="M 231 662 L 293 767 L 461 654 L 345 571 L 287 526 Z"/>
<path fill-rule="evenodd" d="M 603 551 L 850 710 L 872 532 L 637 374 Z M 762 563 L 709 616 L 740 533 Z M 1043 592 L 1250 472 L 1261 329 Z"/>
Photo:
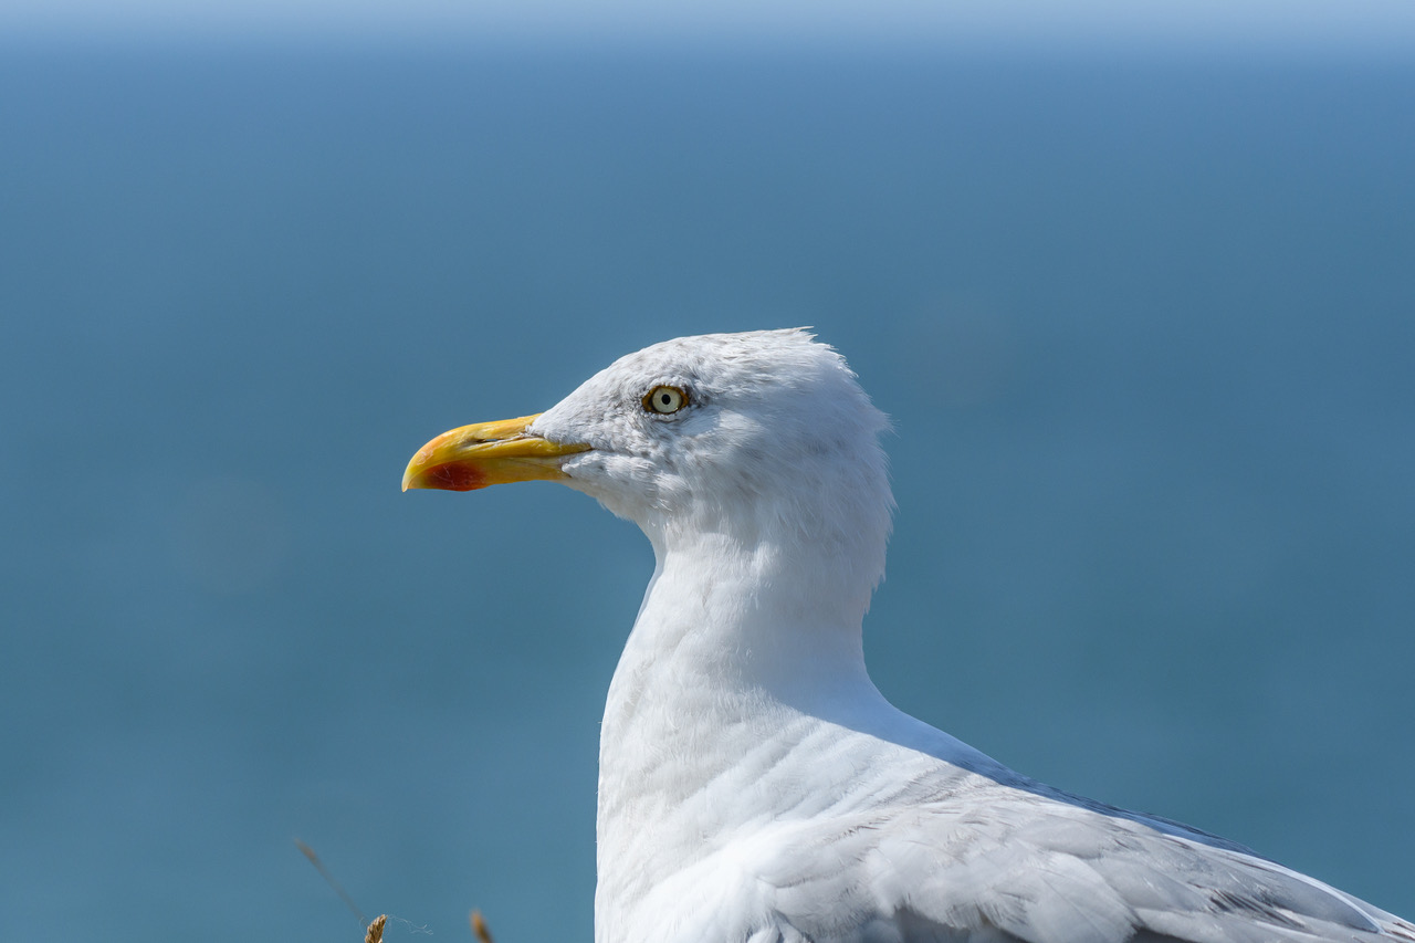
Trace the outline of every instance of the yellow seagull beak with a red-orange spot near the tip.
<path fill-rule="evenodd" d="M 408 463 L 403 490 L 471 491 L 507 481 L 569 477 L 560 463 L 590 446 L 526 435 L 526 426 L 539 415 L 480 422 L 441 433 Z"/>

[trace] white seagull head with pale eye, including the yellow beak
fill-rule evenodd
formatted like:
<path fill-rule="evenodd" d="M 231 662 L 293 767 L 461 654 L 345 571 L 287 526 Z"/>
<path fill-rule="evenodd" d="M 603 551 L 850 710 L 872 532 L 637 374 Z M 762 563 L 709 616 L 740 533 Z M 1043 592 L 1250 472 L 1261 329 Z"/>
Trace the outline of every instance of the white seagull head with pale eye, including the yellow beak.
<path fill-rule="evenodd" d="M 883 572 L 884 415 L 805 330 L 681 337 L 628 354 L 550 409 L 446 432 L 403 488 L 549 479 L 635 521 L 655 549 L 705 534 L 814 544 Z"/>

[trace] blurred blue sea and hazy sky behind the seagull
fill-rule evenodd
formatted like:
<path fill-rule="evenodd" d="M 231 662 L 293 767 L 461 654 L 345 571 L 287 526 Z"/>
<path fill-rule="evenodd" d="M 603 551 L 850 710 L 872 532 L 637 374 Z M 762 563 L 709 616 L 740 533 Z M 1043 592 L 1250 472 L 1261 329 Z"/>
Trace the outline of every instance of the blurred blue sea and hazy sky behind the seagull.
<path fill-rule="evenodd" d="M 1415 8 L 238 10 L 0 16 L 10 936 L 590 939 L 648 547 L 399 476 L 797 324 L 896 704 L 1415 916 Z"/>

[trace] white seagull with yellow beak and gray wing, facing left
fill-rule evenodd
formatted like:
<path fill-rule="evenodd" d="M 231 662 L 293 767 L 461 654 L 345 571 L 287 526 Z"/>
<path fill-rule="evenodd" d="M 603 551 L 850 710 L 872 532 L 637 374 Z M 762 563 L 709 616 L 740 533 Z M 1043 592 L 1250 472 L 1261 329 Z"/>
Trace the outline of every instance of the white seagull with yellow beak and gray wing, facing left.
<path fill-rule="evenodd" d="M 654 545 L 604 707 L 596 943 L 1415 943 L 1351 895 L 886 701 L 862 644 L 886 426 L 809 331 L 708 334 L 408 464 L 403 490 L 560 481 Z"/>

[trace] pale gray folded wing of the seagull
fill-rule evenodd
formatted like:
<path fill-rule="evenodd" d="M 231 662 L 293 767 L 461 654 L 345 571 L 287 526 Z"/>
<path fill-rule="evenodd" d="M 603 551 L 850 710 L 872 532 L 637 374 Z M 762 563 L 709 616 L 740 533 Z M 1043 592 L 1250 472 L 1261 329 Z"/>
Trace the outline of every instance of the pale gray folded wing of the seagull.
<path fill-rule="evenodd" d="M 744 943 L 1415 943 L 1415 926 L 1204 833 L 952 786 L 774 844 L 753 862 L 764 919 Z"/>

